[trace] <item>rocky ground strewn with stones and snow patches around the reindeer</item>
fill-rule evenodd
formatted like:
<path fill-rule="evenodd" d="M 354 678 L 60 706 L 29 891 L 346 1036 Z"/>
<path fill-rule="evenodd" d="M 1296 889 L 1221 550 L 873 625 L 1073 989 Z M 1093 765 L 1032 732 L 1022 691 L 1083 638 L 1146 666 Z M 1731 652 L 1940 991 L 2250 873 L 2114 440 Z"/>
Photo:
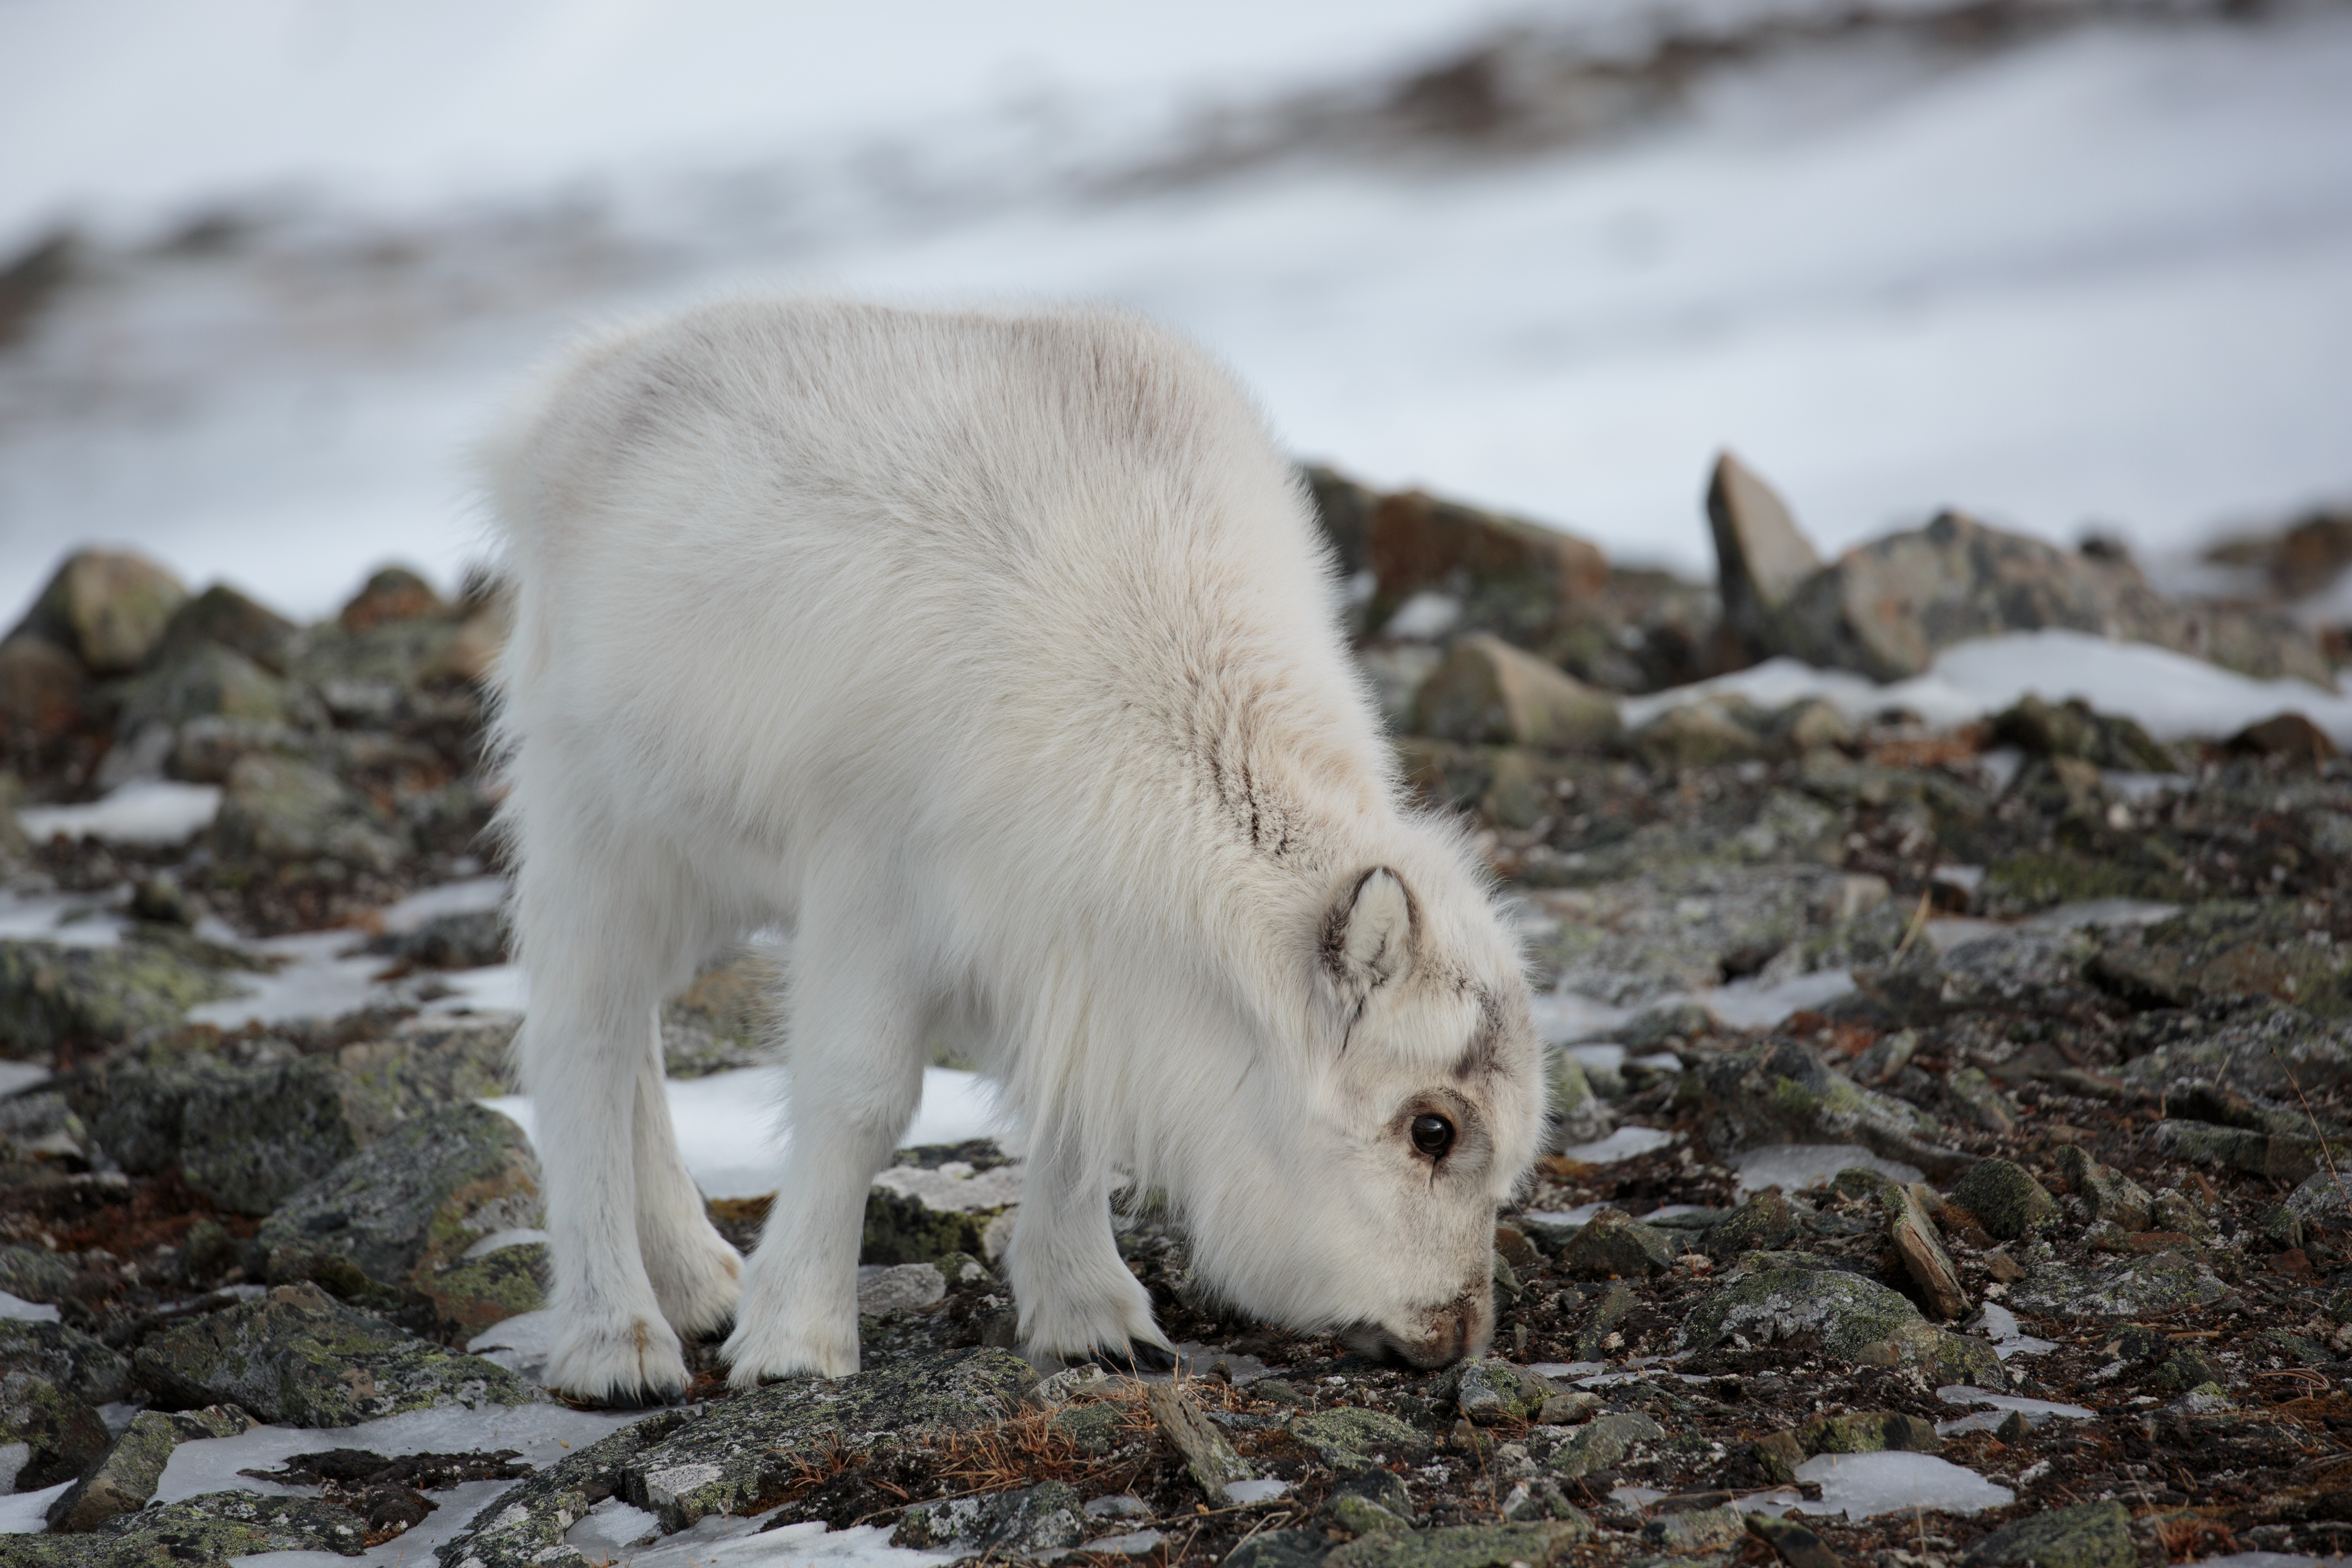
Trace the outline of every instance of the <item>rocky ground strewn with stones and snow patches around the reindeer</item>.
<path fill-rule="evenodd" d="M 1018 1159 L 976 1140 L 875 1187 L 858 1378 L 729 1396 L 701 1345 L 687 1406 L 553 1403 L 536 1166 L 480 1105 L 515 1023 L 494 585 L 386 571 L 299 628 L 92 552 L 0 644 L 0 1563 L 2352 1549 L 2328 736 L 1623 701 L 1776 654 L 1898 679 L 2034 628 L 2326 682 L 2343 639 L 2288 588 L 2352 527 L 2234 543 L 2263 602 L 2176 604 L 1964 517 L 1818 562 L 1726 465 L 1693 585 L 1312 482 L 1402 762 L 1475 813 L 1545 985 L 1555 1152 L 1496 1229 L 1489 1359 L 1232 1319 L 1136 1197 L 1183 1375 L 1040 1382 L 993 1269 Z M 673 1077 L 753 1063 L 769 980 L 734 954 L 673 1001 Z M 278 1001 L 223 1023 L 247 992 Z M 764 1199 L 713 1213 L 748 1244 Z"/>

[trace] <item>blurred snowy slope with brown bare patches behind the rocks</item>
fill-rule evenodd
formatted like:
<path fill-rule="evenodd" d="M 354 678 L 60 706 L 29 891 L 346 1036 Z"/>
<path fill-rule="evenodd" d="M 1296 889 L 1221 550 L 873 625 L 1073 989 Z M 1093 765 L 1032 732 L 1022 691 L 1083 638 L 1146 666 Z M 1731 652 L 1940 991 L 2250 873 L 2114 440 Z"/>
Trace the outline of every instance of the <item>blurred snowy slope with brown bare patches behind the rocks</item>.
<path fill-rule="evenodd" d="M 1616 559 L 1729 444 L 2161 581 L 2352 494 L 2347 85 L 2324 0 L 0 0 L 0 602 L 454 585 L 522 371 L 734 287 L 1129 303 Z"/>

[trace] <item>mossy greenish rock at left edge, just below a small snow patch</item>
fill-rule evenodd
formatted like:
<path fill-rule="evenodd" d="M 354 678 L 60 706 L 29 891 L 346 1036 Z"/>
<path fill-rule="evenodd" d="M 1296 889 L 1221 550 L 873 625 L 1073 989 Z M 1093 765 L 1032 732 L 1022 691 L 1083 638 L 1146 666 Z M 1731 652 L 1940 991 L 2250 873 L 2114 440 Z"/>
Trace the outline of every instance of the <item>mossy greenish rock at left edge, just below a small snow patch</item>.
<path fill-rule="evenodd" d="M 115 1046 L 179 1025 L 200 1001 L 238 994 L 245 961 L 153 926 L 115 947 L 0 940 L 0 1056 Z"/>

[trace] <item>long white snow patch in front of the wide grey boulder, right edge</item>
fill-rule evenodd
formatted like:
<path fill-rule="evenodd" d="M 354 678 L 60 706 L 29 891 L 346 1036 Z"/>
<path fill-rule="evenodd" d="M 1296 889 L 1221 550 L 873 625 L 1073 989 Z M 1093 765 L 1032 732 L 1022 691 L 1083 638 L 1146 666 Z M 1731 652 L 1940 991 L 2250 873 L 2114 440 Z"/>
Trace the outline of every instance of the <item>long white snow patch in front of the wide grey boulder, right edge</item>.
<path fill-rule="evenodd" d="M 2046 703 L 2082 698 L 2100 712 L 2138 719 L 2157 741 L 2230 736 L 2277 712 L 2296 710 L 2336 738 L 2352 743 L 2352 696 L 2296 679 L 2253 679 L 2145 642 L 2110 642 L 2089 632 L 2009 632 L 1945 649 L 1926 675 L 1879 686 L 1844 670 L 1813 670 L 1795 658 L 1625 698 L 1628 724 L 1646 724 L 1668 708 L 1717 691 L 1748 696 L 1766 708 L 1823 698 L 1851 719 L 1907 708 L 1936 726 L 1966 724 L 2023 696 Z M 2157 790 L 2166 788 L 2159 778 Z"/>

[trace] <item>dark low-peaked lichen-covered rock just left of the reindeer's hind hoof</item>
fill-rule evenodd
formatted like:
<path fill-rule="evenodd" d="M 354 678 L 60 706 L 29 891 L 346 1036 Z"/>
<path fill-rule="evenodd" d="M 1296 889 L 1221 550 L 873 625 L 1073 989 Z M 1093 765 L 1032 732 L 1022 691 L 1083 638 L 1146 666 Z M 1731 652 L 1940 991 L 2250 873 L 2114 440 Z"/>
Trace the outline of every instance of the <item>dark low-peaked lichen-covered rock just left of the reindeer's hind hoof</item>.
<path fill-rule="evenodd" d="M 287 1427 L 532 1401 L 503 1366 L 419 1340 L 308 1281 L 158 1335 L 132 1361 L 169 1403 L 235 1403 Z"/>

